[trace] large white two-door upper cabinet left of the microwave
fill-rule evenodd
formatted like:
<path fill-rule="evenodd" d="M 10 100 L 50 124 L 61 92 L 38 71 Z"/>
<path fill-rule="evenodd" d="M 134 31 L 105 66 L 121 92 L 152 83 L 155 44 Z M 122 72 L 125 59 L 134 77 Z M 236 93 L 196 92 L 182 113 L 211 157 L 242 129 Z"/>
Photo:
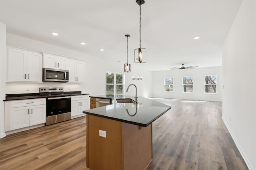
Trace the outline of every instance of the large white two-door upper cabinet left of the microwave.
<path fill-rule="evenodd" d="M 7 80 L 42 82 L 42 54 L 8 48 Z"/>

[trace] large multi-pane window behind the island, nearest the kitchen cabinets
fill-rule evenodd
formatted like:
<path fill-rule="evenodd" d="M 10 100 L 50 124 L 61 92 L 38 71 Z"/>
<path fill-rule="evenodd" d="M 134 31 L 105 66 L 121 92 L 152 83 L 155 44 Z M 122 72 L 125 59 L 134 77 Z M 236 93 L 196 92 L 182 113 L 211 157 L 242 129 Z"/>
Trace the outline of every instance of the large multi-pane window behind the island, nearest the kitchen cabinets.
<path fill-rule="evenodd" d="M 124 94 L 124 74 L 106 72 L 106 94 Z"/>

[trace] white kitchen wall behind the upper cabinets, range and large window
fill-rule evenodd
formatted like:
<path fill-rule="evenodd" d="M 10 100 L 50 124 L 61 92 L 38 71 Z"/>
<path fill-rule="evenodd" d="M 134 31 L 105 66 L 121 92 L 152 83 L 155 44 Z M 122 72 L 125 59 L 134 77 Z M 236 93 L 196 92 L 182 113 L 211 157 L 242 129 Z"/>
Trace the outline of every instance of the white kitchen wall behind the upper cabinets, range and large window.
<path fill-rule="evenodd" d="M 39 87 L 48 86 L 61 86 L 64 87 L 64 91 L 82 91 L 82 93 L 90 93 L 91 95 L 102 95 L 105 94 L 106 86 L 106 70 L 118 73 L 124 73 L 124 63 L 109 61 L 99 57 L 80 53 L 78 51 L 58 47 L 55 45 L 43 43 L 33 39 L 28 39 L 18 35 L 7 33 L 6 43 L 8 45 L 22 47 L 26 49 L 32 49 L 36 51 L 44 51 L 54 53 L 58 55 L 64 55 L 72 57 L 74 59 L 80 59 L 86 61 L 85 69 L 85 83 L 74 84 L 74 83 L 59 83 L 59 82 L 44 82 L 44 83 L 6 83 L 6 94 L 16 93 L 38 93 Z M 126 55 L 124 54 L 124 57 Z M 130 59 L 130 61 L 133 61 Z M 146 63 L 145 63 L 146 64 Z M 132 81 L 132 76 L 136 76 L 136 65 L 131 63 L 132 72 L 125 74 L 125 88 L 131 83 L 134 83 L 138 87 L 138 96 L 151 97 L 152 96 L 152 72 L 146 70 L 140 70 L 138 66 L 138 72 L 143 76 L 143 81 Z M 29 87 L 30 91 L 26 91 Z M 68 90 L 70 87 L 70 90 Z M 135 90 L 132 88 L 126 93 L 127 95 L 135 95 Z"/>

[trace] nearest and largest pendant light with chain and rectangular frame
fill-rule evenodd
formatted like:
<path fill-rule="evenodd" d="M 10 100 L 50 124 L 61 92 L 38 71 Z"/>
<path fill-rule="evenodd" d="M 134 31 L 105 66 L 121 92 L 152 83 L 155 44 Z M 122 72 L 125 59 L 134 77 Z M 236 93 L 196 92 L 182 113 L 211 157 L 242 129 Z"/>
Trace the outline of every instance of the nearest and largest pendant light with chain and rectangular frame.
<path fill-rule="evenodd" d="M 136 3 L 140 6 L 140 48 L 134 49 L 134 63 L 146 63 L 147 51 L 145 48 L 141 48 L 141 5 L 145 2 L 144 0 L 136 0 Z M 136 53 L 138 54 L 138 57 L 136 57 Z"/>

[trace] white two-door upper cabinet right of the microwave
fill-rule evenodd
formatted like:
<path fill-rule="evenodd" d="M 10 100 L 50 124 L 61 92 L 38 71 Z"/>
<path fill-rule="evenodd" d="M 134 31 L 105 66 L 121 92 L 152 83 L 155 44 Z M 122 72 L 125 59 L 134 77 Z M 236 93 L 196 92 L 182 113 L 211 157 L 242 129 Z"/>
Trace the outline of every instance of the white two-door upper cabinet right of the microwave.
<path fill-rule="evenodd" d="M 84 82 L 84 61 L 68 60 L 69 82 L 82 83 Z"/>

